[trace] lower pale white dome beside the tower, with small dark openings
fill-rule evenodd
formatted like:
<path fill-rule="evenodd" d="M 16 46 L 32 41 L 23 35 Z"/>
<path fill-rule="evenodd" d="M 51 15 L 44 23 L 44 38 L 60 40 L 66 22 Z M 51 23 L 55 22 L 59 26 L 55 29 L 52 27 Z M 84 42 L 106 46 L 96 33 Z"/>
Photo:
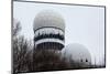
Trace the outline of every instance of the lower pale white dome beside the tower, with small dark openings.
<path fill-rule="evenodd" d="M 72 56 L 72 59 L 78 63 L 82 62 L 85 64 L 91 64 L 91 55 L 88 49 L 78 43 L 66 45 L 63 51 L 66 57 Z"/>

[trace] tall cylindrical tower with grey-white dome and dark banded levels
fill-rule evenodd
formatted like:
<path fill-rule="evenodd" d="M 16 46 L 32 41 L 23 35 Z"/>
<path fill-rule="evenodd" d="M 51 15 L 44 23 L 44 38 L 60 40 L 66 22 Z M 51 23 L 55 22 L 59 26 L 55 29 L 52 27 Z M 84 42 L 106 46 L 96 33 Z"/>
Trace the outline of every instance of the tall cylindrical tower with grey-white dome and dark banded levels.
<path fill-rule="evenodd" d="M 61 14 L 45 10 L 34 19 L 34 46 L 37 50 L 62 50 L 65 45 L 65 22 Z"/>

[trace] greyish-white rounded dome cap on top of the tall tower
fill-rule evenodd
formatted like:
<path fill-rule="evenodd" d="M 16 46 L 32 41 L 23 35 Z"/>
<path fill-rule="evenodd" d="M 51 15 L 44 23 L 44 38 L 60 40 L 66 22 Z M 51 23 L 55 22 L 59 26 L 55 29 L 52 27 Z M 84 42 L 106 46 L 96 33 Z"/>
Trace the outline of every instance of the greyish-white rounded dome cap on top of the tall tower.
<path fill-rule="evenodd" d="M 37 30 L 43 27 L 55 27 L 65 31 L 65 22 L 63 17 L 51 10 L 38 12 L 34 19 L 33 30 Z"/>

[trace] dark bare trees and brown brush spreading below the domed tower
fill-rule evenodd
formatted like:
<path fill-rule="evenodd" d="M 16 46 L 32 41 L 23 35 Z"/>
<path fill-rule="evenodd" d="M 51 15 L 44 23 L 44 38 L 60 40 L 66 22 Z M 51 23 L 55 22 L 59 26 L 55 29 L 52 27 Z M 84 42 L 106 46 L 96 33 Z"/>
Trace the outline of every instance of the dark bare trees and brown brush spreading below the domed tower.
<path fill-rule="evenodd" d="M 75 62 L 72 56 L 66 59 L 61 51 L 38 50 L 30 41 L 20 35 L 21 23 L 13 21 L 12 25 L 12 72 L 13 74 L 25 72 L 43 72 L 59 70 L 79 70 L 99 67 Z M 64 54 L 65 55 L 65 54 Z"/>

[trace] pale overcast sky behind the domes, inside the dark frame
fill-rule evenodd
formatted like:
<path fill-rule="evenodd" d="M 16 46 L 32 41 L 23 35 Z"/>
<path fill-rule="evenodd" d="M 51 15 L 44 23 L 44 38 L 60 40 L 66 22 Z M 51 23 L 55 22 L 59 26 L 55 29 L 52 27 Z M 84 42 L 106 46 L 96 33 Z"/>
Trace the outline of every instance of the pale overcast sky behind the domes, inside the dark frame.
<path fill-rule="evenodd" d="M 105 8 L 48 3 L 14 2 L 13 18 L 22 25 L 21 34 L 33 40 L 33 20 L 42 10 L 54 10 L 65 20 L 65 45 L 79 43 L 91 53 L 92 61 L 105 57 Z"/>

